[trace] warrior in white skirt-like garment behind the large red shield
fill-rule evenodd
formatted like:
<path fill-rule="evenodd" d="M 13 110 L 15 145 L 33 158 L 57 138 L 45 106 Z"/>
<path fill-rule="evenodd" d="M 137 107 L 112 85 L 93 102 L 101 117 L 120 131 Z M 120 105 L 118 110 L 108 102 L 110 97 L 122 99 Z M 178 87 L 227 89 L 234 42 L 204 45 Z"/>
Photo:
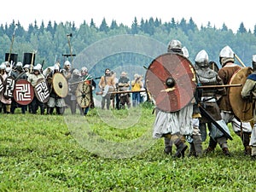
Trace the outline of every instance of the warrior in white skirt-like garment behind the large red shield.
<path fill-rule="evenodd" d="M 168 44 L 168 52 L 183 55 L 182 44 L 177 39 L 172 39 Z M 154 120 L 153 137 L 165 138 L 166 154 L 172 154 L 172 143 L 176 146 L 175 158 L 184 157 L 184 152 L 188 148 L 185 143 L 185 135 L 192 135 L 193 104 L 189 103 L 186 107 L 177 112 L 166 113 L 156 108 Z"/>

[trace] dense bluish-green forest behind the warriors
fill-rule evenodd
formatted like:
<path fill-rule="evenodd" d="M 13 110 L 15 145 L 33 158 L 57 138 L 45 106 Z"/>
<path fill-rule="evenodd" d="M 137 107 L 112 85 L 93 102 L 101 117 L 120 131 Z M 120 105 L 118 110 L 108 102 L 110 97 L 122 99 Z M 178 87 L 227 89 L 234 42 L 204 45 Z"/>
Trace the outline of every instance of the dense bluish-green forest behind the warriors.
<path fill-rule="evenodd" d="M 100 26 L 93 19 L 84 20 L 80 26 L 69 21 L 59 24 L 49 21 L 46 25 L 42 21 L 38 25 L 35 20 L 27 30 L 13 20 L 0 26 L 0 58 L 4 61 L 6 53 L 15 53 L 22 62 L 24 53 L 35 53 L 35 62 L 44 62 L 44 67 L 53 66 L 55 61 L 63 64 L 70 60 L 73 67 L 86 66 L 97 76 L 106 67 L 117 71 L 119 67 L 127 67 L 128 72 L 143 70 L 157 55 L 166 52 L 173 38 L 189 50 L 192 63 L 201 49 L 207 50 L 210 61 L 218 63 L 219 51 L 225 45 L 247 66 L 256 54 L 256 26 L 251 32 L 243 22 L 233 32 L 225 24 L 220 29 L 210 22 L 207 26 L 196 26 L 192 18 L 180 21 L 172 18 L 162 23 L 157 18 L 138 21 L 135 17 L 131 26 L 118 25 L 115 20 L 108 25 L 104 18 Z"/>

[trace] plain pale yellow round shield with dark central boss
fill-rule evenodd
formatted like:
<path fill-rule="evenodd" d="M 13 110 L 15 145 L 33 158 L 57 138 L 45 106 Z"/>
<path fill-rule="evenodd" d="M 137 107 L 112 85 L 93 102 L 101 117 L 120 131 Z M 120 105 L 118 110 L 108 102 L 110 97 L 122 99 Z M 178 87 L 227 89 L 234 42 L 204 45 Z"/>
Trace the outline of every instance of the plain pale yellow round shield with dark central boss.
<path fill-rule="evenodd" d="M 60 97 L 66 97 L 68 93 L 67 79 L 61 73 L 54 73 L 52 77 L 52 86 L 55 93 Z"/>

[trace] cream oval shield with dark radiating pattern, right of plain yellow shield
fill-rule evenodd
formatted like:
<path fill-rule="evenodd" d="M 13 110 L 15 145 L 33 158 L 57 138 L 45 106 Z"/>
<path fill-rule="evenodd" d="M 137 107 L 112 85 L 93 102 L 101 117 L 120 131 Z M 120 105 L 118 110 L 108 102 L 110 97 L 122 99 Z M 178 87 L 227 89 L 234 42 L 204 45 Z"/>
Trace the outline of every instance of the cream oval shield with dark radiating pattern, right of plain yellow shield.
<path fill-rule="evenodd" d="M 77 96 L 77 102 L 81 108 L 87 108 L 90 105 L 90 96 L 91 96 L 92 87 L 90 84 L 81 82 L 78 84 L 75 95 Z"/>

